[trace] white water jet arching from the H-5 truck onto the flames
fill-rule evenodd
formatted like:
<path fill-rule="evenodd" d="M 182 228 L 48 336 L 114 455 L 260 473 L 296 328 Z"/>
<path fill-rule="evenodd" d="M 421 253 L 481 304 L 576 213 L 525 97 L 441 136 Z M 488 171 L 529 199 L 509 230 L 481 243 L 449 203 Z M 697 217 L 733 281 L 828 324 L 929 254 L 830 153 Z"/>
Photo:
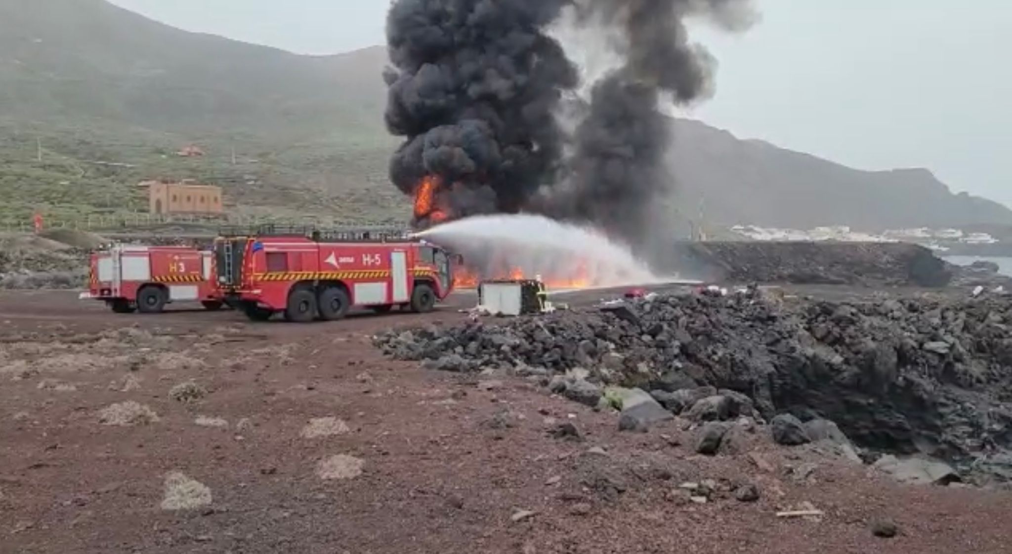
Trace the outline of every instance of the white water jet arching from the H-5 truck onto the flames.
<path fill-rule="evenodd" d="M 481 278 L 506 277 L 519 270 L 525 278 L 540 275 L 546 283 L 581 288 L 662 281 L 627 247 L 599 230 L 541 215 L 477 215 L 416 237 L 460 254 L 465 266 Z"/>

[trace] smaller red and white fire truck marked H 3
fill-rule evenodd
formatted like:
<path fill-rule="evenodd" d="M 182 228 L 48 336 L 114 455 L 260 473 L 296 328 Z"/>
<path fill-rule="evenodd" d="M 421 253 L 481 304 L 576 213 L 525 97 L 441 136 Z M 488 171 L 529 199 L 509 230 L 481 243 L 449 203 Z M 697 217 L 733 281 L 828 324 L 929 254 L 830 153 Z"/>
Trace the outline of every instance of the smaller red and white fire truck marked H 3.
<path fill-rule="evenodd" d="M 116 245 L 92 253 L 89 273 L 81 298 L 102 300 L 116 313 L 156 313 L 184 300 L 212 310 L 224 304 L 209 251 Z"/>

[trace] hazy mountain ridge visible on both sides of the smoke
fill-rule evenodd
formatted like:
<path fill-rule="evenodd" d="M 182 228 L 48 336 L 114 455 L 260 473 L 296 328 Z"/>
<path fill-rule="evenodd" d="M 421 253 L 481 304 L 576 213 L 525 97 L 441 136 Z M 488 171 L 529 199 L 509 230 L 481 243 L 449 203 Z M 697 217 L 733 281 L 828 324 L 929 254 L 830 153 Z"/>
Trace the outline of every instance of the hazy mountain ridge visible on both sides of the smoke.
<path fill-rule="evenodd" d="M 305 56 L 185 31 L 105 0 L 40 4 L 0 4 L 0 104 L 10 106 L 0 112 L 0 192 L 11 193 L 11 214 L 141 209 L 132 181 L 166 177 L 219 182 L 235 209 L 407 215 L 386 178 L 398 140 L 383 122 L 384 47 Z M 856 170 L 696 120 L 672 124 L 681 216 L 793 227 L 1012 223 L 1008 207 L 953 194 L 928 170 Z M 37 162 L 35 138 L 70 169 Z M 208 154 L 175 159 L 185 144 Z M 89 159 L 135 167 L 80 169 Z M 102 190 L 125 200 L 102 205 Z"/>

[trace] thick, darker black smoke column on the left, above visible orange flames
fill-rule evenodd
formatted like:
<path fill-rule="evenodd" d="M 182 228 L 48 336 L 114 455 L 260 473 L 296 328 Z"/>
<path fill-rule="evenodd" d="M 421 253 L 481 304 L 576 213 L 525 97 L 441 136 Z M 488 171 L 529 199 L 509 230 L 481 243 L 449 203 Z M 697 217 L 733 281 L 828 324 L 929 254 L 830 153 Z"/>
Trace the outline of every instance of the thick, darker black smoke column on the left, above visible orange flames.
<path fill-rule="evenodd" d="M 565 0 L 398 0 L 387 20 L 394 68 L 387 126 L 406 137 L 390 174 L 406 194 L 440 179 L 452 217 L 517 212 L 562 162 L 556 124 L 577 73 L 544 32 Z M 424 215 L 416 221 L 425 225 Z"/>

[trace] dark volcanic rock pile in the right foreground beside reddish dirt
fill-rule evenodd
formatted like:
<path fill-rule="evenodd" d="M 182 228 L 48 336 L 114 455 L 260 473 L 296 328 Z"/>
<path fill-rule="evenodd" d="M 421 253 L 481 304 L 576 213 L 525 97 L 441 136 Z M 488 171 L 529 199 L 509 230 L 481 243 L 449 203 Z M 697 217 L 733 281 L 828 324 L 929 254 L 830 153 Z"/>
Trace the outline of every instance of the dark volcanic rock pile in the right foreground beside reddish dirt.
<path fill-rule="evenodd" d="M 700 421 L 753 408 L 766 421 L 827 419 L 865 448 L 1012 477 L 1010 326 L 1007 296 L 850 303 L 751 290 L 430 326 L 375 344 L 437 369 L 557 375 L 553 386 L 588 404 L 620 385 Z"/>

